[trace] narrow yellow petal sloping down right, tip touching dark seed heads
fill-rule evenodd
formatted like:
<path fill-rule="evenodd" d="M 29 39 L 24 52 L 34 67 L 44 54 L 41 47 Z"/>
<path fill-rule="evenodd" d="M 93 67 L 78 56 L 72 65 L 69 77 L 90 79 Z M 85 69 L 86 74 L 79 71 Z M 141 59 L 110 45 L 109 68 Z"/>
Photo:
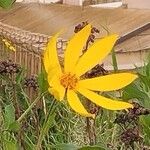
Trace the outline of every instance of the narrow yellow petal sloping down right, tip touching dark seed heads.
<path fill-rule="evenodd" d="M 127 108 L 133 108 L 133 105 L 130 103 L 112 100 L 84 88 L 78 88 L 77 90 L 83 96 L 88 98 L 91 102 L 106 109 L 122 110 Z"/>

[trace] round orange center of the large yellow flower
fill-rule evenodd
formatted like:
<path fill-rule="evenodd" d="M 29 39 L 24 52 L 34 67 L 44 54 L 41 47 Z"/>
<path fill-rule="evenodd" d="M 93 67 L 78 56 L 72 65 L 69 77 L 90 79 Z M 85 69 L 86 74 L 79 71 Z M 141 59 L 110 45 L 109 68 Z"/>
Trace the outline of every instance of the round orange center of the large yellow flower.
<path fill-rule="evenodd" d="M 69 90 L 75 89 L 76 85 L 78 82 L 78 78 L 76 77 L 75 74 L 70 74 L 70 73 L 64 73 L 60 77 L 60 84 Z"/>

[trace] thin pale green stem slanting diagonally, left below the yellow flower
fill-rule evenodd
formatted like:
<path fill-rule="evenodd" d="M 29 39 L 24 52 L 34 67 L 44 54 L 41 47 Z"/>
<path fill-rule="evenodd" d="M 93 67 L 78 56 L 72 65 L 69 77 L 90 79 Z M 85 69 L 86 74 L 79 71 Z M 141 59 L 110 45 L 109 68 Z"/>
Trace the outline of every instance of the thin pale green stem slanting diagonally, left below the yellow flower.
<path fill-rule="evenodd" d="M 22 119 L 31 111 L 31 109 L 35 106 L 35 104 L 46 94 L 45 93 L 42 93 L 40 96 L 38 96 L 34 101 L 33 103 L 28 107 L 28 109 L 18 118 L 18 122 L 21 122 Z"/>

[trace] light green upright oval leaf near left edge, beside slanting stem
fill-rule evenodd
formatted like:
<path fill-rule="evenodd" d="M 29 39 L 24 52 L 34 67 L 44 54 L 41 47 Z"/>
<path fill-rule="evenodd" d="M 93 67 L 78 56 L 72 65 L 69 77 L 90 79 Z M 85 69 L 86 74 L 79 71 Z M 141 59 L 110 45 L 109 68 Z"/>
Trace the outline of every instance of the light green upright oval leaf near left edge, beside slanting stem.
<path fill-rule="evenodd" d="M 10 124 L 12 124 L 13 122 L 15 122 L 15 108 L 13 104 L 10 104 L 5 107 L 4 113 L 5 128 L 8 128 Z"/>

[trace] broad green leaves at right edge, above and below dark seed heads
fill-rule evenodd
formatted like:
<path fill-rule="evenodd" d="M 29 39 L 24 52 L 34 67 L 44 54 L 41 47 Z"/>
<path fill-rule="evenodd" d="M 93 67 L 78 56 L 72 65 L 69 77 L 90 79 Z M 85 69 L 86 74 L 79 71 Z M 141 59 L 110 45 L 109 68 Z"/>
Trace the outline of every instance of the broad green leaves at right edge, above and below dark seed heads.
<path fill-rule="evenodd" d="M 150 60 L 140 69 L 136 69 L 139 76 L 135 83 L 127 86 L 123 91 L 124 99 L 134 99 L 145 108 L 150 109 Z M 140 117 L 140 126 L 144 135 L 144 142 L 150 145 L 150 116 Z"/>

